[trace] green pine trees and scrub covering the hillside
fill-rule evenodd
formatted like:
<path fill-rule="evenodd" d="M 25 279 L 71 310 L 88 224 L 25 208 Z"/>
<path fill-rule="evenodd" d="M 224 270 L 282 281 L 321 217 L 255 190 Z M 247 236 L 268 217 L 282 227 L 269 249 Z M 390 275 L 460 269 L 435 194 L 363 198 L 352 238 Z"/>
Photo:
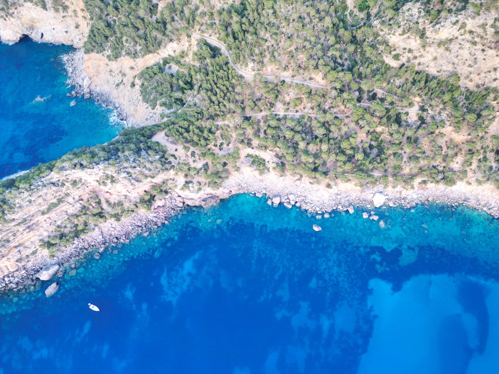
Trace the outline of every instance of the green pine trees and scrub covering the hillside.
<path fill-rule="evenodd" d="M 149 182 L 133 198 L 81 197 L 81 208 L 43 243 L 54 255 L 108 219 L 150 209 L 170 190 L 170 181 L 156 180 L 158 175 L 176 173 L 181 188 L 193 191 L 218 187 L 238 170 L 241 155 L 246 155 L 241 165 L 261 174 L 274 167 L 330 183 L 409 188 L 416 181 L 452 186 L 476 180 L 499 187 L 499 136 L 489 129 L 498 91 L 464 89 L 457 73 L 437 78 L 414 64 L 391 67 L 381 58 L 407 61 L 373 23 L 390 25 L 407 2 L 357 0 L 357 11 L 349 11 L 343 0 L 84 0 L 91 16 L 87 53 L 136 58 L 194 30 L 222 41 L 231 61 L 256 74 L 245 79 L 222 50 L 204 39 L 196 45 L 188 39 L 186 52 L 137 71 L 131 84 L 140 87 L 151 108 L 163 109 L 163 123 L 126 129 L 105 145 L 70 152 L 0 182 L 0 223 L 9 223 L 10 212 L 22 205 L 19 196 L 42 193 L 50 173 L 99 168 L 100 186 L 118 179 Z M 50 4 L 64 11 L 63 2 Z M 478 14 L 497 1 L 420 4 L 436 22 L 465 8 Z M 0 0 L 0 9 L 9 6 Z M 466 27 L 463 23 L 461 29 Z M 258 73 L 268 71 L 326 87 Z M 158 131 L 165 131 L 174 149 L 151 140 Z M 271 154 L 269 162 L 260 157 L 263 152 Z M 56 187 L 81 183 L 51 181 Z M 65 198 L 47 204 L 42 214 L 66 203 Z"/>

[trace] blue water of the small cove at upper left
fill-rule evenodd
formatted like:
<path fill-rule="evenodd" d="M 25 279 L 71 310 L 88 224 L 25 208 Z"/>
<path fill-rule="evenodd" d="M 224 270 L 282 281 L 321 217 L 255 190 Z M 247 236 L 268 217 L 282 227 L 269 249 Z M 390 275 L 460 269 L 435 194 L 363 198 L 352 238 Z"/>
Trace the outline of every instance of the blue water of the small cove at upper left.
<path fill-rule="evenodd" d="M 112 110 L 67 97 L 72 88 L 59 56 L 70 51 L 27 39 L 0 44 L 0 179 L 108 142 L 121 130 L 110 123 Z"/>

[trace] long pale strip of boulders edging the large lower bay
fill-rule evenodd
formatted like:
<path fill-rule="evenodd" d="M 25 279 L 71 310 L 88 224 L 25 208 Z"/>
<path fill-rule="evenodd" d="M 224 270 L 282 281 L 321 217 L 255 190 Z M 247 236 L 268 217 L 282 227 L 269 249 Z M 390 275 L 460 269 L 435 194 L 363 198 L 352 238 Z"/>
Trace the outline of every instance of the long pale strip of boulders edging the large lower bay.
<path fill-rule="evenodd" d="M 434 186 L 407 190 L 383 187 L 360 188 L 352 184 L 338 183 L 328 188 L 324 183 L 311 184 L 305 179 L 281 177 L 273 172 L 260 176 L 250 167 L 243 166 L 241 172 L 230 177 L 220 189 L 207 188 L 201 192 L 171 190 L 163 200 L 152 207 L 151 211 L 140 211 L 120 222 L 107 221 L 84 237 L 75 239 L 53 259 L 46 256 L 30 259 L 18 269 L 0 278 L 0 293 L 15 293 L 26 288 L 34 290 L 34 285 L 38 282 L 36 274 L 46 265 L 61 266 L 53 277 L 60 278 L 64 274 L 64 266 L 73 264 L 87 252 L 102 252 L 110 245 L 126 243 L 138 235 L 147 236 L 152 228 L 168 224 L 169 218 L 181 209 L 188 206 L 208 207 L 236 194 L 248 193 L 258 197 L 265 195 L 269 205 L 284 204 L 289 208 L 296 206 L 311 215 L 316 215 L 317 218 L 321 218 L 326 212 L 353 213 L 355 210 L 360 210 L 374 211 L 374 214 L 371 213 L 371 219 L 374 219 L 376 212 L 388 206 L 407 209 L 426 203 L 465 205 L 499 218 L 499 194 L 497 191 L 491 194 L 491 191 L 492 188 L 485 186 L 477 188 L 464 184 L 455 187 Z M 379 207 L 373 204 L 373 196 L 376 193 L 385 196 L 383 204 Z M 381 227 L 384 225 L 382 221 L 377 224 Z M 96 260 L 98 257 L 96 256 Z"/>

